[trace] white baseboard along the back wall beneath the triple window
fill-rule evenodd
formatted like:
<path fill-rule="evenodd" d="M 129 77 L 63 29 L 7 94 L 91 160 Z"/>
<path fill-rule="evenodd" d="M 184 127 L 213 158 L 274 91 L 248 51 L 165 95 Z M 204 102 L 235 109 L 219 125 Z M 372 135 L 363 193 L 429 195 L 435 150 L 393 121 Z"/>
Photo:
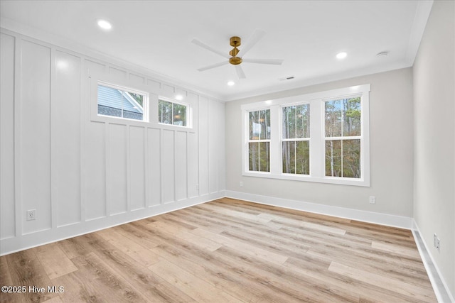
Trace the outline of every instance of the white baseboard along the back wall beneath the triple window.
<path fill-rule="evenodd" d="M 358 209 L 347 209 L 338 206 L 316 204 L 310 202 L 301 202 L 296 200 L 261 196 L 259 194 L 247 194 L 245 192 L 234 192 L 226 190 L 226 197 L 241 199 L 259 204 L 284 207 L 287 209 L 296 209 L 299 211 L 309 211 L 316 214 L 325 214 L 328 216 L 338 216 L 346 219 L 364 221 L 368 223 L 393 226 L 399 228 L 412 228 L 412 218 L 407 216 L 395 216 L 391 214 L 380 214 L 373 211 L 361 211 Z"/>

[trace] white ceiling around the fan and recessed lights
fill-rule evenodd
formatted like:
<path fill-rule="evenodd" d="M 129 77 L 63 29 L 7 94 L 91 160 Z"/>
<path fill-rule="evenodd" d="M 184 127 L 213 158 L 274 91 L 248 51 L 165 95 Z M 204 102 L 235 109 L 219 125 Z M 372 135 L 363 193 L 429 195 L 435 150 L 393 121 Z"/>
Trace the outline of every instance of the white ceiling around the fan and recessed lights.
<path fill-rule="evenodd" d="M 373 72 L 409 67 L 432 1 L 5 1 L 1 27 L 58 45 L 130 62 L 221 100 L 249 97 Z M 112 23 L 102 31 L 97 20 Z M 228 53 L 255 29 L 267 34 L 245 57 L 282 65 L 242 63 L 199 72 L 225 60 L 191 43 L 198 38 Z M 240 54 L 242 46 L 240 46 Z M 345 60 L 336 54 L 348 53 Z M 387 51 L 387 57 L 376 54 Z M 280 81 L 281 77 L 294 79 Z M 228 87 L 229 80 L 236 84 Z"/>

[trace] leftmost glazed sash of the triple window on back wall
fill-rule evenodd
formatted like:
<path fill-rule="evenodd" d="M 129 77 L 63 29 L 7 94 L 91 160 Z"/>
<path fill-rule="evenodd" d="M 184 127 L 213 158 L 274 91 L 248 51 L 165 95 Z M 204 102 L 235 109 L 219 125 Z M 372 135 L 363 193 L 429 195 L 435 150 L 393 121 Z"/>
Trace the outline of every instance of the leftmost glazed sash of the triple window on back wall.
<path fill-rule="evenodd" d="M 249 170 L 270 171 L 270 110 L 250 111 L 248 139 Z"/>

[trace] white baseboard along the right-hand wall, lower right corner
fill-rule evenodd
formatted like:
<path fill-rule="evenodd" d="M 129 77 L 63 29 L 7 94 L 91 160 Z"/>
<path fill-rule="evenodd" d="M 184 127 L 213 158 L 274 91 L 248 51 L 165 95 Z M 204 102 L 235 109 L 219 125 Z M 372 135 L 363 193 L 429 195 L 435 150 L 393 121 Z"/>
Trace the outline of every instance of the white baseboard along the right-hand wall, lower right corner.
<path fill-rule="evenodd" d="M 455 303 L 454 295 L 451 294 L 449 287 L 447 286 L 439 268 L 434 262 L 431 250 L 428 249 L 427 243 L 423 240 L 419 226 L 417 226 L 416 221 L 412 219 L 412 235 L 414 236 L 415 243 L 417 244 L 417 249 L 419 250 L 420 257 L 427 270 L 427 274 L 430 282 L 432 282 L 432 287 L 434 294 L 440 303 Z"/>

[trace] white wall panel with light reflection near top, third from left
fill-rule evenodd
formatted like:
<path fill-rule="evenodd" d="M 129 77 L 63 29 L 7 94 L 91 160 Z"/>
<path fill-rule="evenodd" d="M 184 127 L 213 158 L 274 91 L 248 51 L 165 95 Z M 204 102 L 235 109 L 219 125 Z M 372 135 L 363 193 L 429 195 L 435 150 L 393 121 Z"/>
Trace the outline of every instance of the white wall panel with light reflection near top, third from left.
<path fill-rule="evenodd" d="M 53 209 L 58 226 L 81 221 L 80 57 L 55 52 L 50 106 Z"/>

